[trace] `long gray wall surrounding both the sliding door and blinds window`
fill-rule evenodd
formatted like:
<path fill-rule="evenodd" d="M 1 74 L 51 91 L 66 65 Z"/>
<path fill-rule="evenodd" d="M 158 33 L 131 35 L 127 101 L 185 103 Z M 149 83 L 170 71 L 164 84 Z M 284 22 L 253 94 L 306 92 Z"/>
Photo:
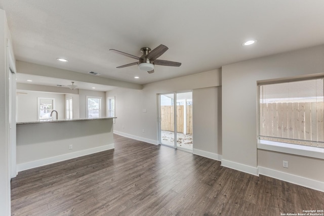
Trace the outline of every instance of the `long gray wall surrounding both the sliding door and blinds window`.
<path fill-rule="evenodd" d="M 146 84 L 143 90 L 109 91 L 106 96 L 115 96 L 116 100 L 114 131 L 157 144 L 157 94 L 193 90 L 194 154 L 221 160 L 223 166 L 253 175 L 324 191 L 322 159 L 257 147 L 257 82 L 322 74 L 323 59 L 324 46 L 318 46 Z M 288 169 L 282 167 L 284 159 L 289 161 Z"/>

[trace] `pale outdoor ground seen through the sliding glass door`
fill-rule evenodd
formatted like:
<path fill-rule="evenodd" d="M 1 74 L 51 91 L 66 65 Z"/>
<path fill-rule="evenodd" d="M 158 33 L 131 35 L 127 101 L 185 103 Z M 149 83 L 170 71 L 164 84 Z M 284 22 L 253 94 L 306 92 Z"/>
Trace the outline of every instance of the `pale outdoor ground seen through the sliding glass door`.
<path fill-rule="evenodd" d="M 161 131 L 161 142 L 166 145 L 174 145 L 174 132 Z M 192 150 L 192 134 L 177 133 L 177 146 Z"/>

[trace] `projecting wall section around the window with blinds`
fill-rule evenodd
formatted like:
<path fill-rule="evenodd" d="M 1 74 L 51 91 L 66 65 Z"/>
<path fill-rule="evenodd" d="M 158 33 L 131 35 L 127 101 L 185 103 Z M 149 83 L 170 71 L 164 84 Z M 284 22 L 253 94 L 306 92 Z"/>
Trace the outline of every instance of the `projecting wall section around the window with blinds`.
<path fill-rule="evenodd" d="M 257 81 L 323 72 L 324 46 L 223 66 L 222 164 L 253 174 L 257 174 L 261 164 L 267 169 L 324 183 L 324 160 L 289 155 L 292 167 L 282 169 L 281 158 L 285 154 L 257 150 Z M 274 162 L 276 158 L 280 160 Z"/>

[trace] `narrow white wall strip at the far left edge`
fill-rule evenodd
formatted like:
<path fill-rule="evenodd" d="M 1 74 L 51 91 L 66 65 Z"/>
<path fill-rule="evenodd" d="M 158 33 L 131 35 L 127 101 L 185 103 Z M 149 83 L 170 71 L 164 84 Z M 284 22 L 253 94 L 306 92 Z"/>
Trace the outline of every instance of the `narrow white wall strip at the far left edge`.
<path fill-rule="evenodd" d="M 0 9 L 0 215 L 10 215 L 11 151 L 9 143 L 8 56 L 12 48 L 6 13 Z"/>

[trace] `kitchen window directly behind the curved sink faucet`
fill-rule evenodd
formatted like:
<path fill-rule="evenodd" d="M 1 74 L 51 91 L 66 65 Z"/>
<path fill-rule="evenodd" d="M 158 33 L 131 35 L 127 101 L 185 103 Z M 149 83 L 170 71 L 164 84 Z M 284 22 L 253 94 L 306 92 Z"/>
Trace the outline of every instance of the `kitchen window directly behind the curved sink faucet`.
<path fill-rule="evenodd" d="M 51 112 L 55 109 L 54 98 L 37 98 L 37 120 L 49 121 L 53 120 L 54 115 Z"/>

